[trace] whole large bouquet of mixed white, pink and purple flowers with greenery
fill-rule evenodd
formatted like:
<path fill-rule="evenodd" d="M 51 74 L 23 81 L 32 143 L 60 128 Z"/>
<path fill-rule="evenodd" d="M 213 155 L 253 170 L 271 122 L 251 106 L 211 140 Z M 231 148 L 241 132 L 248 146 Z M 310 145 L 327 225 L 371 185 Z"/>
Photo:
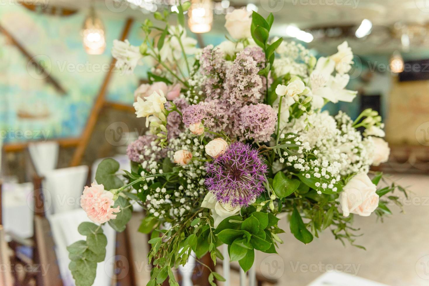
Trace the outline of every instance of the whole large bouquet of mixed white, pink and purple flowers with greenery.
<path fill-rule="evenodd" d="M 128 146 L 131 172 L 119 176 L 118 162 L 105 159 L 97 184 L 85 187 L 82 208 L 94 223 L 82 223 L 86 241 L 68 247 L 77 285 L 91 285 L 105 259 L 101 225 L 124 231 L 131 203 L 145 210 L 139 231 L 151 233 L 151 286 L 178 285 L 172 269 L 190 256 L 224 259 L 222 244 L 248 271 L 256 250 L 277 253 L 282 218 L 305 244 L 329 229 L 356 245 L 353 215 L 383 217 L 389 200 L 400 205 L 390 193 L 402 187 L 378 188 L 382 174 L 367 175 L 389 155 L 378 113 L 352 120 L 322 111 L 356 95 L 345 89 L 353 64 L 347 42 L 317 60 L 300 44 L 270 39 L 272 14 L 234 10 L 225 25 L 234 39 L 199 49 L 184 29 L 189 6 L 155 13 L 162 27 L 146 20 L 140 47 L 114 43 L 118 69 L 132 72 L 143 57 L 155 62 L 134 103 L 149 130 Z M 173 14 L 177 26 L 169 24 Z M 224 280 L 210 271 L 212 285 Z"/>

